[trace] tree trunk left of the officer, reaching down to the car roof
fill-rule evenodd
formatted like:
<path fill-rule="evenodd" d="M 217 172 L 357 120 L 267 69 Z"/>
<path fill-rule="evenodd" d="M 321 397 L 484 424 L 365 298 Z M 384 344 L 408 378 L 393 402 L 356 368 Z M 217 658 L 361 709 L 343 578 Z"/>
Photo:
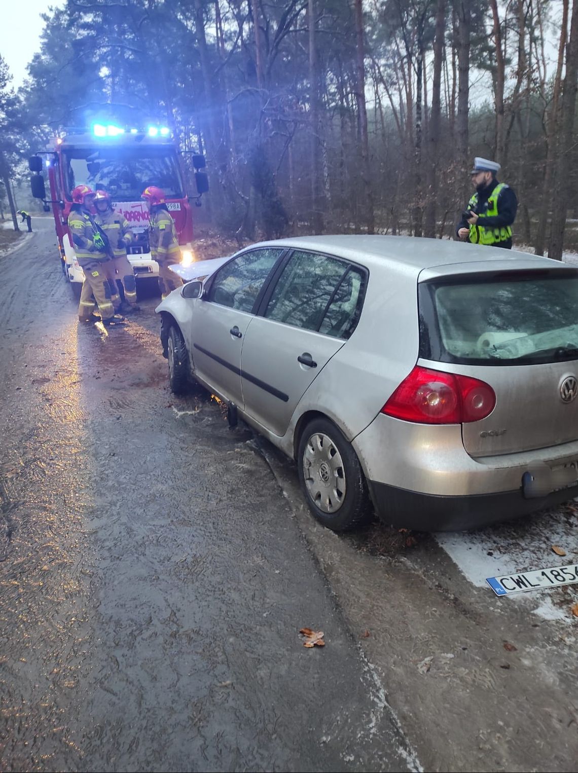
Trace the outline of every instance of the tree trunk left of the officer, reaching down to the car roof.
<path fill-rule="evenodd" d="M 436 36 L 433 41 L 433 87 L 431 93 L 431 119 L 428 136 L 429 165 L 427 167 L 427 210 L 424 235 L 430 238 L 436 235 L 437 213 L 437 169 L 440 152 L 440 116 L 441 116 L 441 66 L 444 56 L 446 0 L 437 0 Z"/>

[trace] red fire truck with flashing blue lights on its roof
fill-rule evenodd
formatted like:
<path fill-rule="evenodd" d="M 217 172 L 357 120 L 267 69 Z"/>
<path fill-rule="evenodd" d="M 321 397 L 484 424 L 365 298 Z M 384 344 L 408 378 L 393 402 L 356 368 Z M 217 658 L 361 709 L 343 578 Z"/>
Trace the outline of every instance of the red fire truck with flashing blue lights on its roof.
<path fill-rule="evenodd" d="M 32 196 L 42 199 L 45 212 L 52 209 L 63 274 L 76 295 L 80 295 L 84 274 L 76 260 L 68 215 L 70 192 L 80 184 L 94 191 L 105 189 L 114 209 L 131 224 L 134 238 L 127 252 L 138 282 L 158 278 L 158 264 L 152 260 L 148 244 L 148 209 L 141 201 L 147 186 L 165 191 L 167 209 L 179 233 L 182 265 L 192 263 L 191 202 L 200 206 L 202 194 L 209 190 L 206 172 L 199 171 L 205 168 L 202 155 L 192 155 L 197 192 L 196 196 L 187 196 L 181 154 L 167 127 L 95 123 L 88 130 L 61 132 L 48 147 L 29 158 L 29 169 L 35 172 L 31 178 Z M 44 169 L 49 179 L 49 199 Z"/>

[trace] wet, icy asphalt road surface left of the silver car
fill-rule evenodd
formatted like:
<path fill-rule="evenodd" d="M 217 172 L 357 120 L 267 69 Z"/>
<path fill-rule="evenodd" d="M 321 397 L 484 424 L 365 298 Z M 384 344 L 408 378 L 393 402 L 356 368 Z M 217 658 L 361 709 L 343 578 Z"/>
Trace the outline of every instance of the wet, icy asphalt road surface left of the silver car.
<path fill-rule="evenodd" d="M 0 769 L 415 768 L 259 444 L 168 391 L 154 298 L 79 327 L 33 224 L 0 257 Z"/>

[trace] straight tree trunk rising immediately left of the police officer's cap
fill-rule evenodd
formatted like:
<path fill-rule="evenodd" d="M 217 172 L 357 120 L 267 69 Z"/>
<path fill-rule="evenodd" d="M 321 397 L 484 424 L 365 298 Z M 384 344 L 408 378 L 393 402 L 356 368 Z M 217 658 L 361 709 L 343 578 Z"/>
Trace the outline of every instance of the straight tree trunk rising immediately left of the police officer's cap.
<path fill-rule="evenodd" d="M 471 14 L 468 0 L 454 0 L 457 15 L 457 156 L 461 173 L 461 196 L 468 199 L 468 117 L 470 103 L 470 37 Z M 464 204 L 462 204 L 464 206 Z"/>

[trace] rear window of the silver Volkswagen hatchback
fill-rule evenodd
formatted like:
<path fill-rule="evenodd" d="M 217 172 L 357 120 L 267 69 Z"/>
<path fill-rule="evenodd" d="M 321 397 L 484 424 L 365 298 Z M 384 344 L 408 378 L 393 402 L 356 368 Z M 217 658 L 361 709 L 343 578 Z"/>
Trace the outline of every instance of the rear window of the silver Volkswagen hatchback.
<path fill-rule="evenodd" d="M 578 359 L 578 271 L 475 274 L 420 284 L 420 356 L 479 365 Z"/>

